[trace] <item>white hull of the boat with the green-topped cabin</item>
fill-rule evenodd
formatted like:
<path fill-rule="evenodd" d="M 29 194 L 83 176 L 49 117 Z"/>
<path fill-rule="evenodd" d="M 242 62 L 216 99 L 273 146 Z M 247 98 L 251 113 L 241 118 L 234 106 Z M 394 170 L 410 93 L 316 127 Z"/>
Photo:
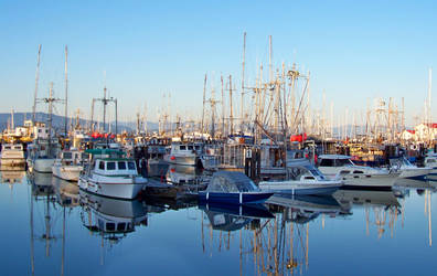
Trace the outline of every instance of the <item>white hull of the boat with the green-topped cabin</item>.
<path fill-rule="evenodd" d="M 116 198 L 116 199 L 135 199 L 138 193 L 146 187 L 147 179 L 141 177 L 132 178 L 115 178 L 99 177 L 88 178 L 81 176 L 78 185 L 82 190 L 98 195 Z"/>

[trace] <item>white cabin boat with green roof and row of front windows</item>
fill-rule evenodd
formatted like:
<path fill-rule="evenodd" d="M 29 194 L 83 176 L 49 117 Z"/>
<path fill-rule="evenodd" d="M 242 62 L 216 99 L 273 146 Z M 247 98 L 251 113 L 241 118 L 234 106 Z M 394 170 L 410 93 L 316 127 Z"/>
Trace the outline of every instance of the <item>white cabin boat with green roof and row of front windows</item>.
<path fill-rule="evenodd" d="M 147 179 L 138 173 L 135 160 L 113 149 L 93 149 L 90 166 L 79 176 L 81 190 L 98 195 L 135 199 L 146 188 Z"/>

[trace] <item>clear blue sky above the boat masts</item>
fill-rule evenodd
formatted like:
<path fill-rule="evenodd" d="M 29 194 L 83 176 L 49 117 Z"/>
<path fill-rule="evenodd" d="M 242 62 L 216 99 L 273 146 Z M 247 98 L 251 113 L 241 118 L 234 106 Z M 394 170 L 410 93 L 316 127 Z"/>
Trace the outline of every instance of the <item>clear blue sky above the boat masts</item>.
<path fill-rule="evenodd" d="M 42 44 L 39 97 L 51 82 L 63 97 L 68 46 L 70 114 L 88 117 L 106 84 L 120 120 L 145 106 L 157 120 L 164 94 L 173 117 L 198 116 L 205 74 L 210 87 L 220 87 L 221 74 L 241 82 L 246 32 L 246 82 L 268 63 L 271 35 L 275 67 L 310 72 L 313 108 L 322 108 L 323 91 L 335 116 L 347 108 L 362 115 L 376 97 L 398 105 L 404 97 L 413 124 L 424 112 L 428 70 L 437 72 L 436 11 L 436 1 L 402 0 L 0 0 L 0 113 L 31 112 Z"/>

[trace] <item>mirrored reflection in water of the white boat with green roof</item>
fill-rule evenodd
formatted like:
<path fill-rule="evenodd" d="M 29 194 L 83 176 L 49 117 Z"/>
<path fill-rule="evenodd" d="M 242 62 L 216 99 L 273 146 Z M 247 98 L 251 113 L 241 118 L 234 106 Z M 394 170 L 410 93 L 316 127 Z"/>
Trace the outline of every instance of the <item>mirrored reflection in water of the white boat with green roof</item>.
<path fill-rule="evenodd" d="M 147 211 L 138 200 L 109 199 L 81 190 L 79 202 L 83 225 L 90 233 L 100 235 L 103 241 L 108 241 L 110 246 L 134 232 L 137 225 L 147 225 Z"/>

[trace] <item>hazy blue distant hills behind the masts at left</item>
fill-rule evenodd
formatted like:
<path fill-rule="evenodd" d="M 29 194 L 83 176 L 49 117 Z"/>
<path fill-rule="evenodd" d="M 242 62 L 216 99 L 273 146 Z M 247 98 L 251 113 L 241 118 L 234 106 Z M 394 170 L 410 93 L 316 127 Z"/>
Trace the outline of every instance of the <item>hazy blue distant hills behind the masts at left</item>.
<path fill-rule="evenodd" d="M 36 113 L 35 114 L 36 120 L 38 121 L 47 121 L 49 119 L 49 114 L 46 113 Z M 13 124 L 15 127 L 18 126 L 23 126 L 24 125 L 24 120 L 25 119 L 32 119 L 32 113 L 15 113 L 13 115 Z M 52 124 L 53 124 L 53 128 L 56 131 L 63 131 L 64 129 L 64 121 L 65 121 L 65 117 L 64 116 L 60 116 L 60 115 L 55 115 L 53 114 L 52 116 Z M 10 113 L 0 113 L 0 130 L 3 131 L 6 128 L 8 128 L 8 124 L 11 124 L 11 114 Z M 76 119 L 75 118 L 68 118 L 68 125 L 71 124 L 76 124 Z M 88 127 L 89 126 L 89 120 L 86 119 L 79 119 L 79 124 L 83 127 Z M 68 126 L 70 127 L 70 126 Z M 134 131 L 137 128 L 137 124 L 136 123 L 130 123 L 130 121 L 118 121 L 118 131 Z M 153 131 L 158 129 L 158 124 L 156 123 L 151 123 L 148 121 L 147 123 L 147 128 L 149 129 L 149 131 Z M 106 128 L 108 129 L 108 127 Z M 111 121 L 111 129 L 113 131 L 115 131 L 115 123 Z"/>

